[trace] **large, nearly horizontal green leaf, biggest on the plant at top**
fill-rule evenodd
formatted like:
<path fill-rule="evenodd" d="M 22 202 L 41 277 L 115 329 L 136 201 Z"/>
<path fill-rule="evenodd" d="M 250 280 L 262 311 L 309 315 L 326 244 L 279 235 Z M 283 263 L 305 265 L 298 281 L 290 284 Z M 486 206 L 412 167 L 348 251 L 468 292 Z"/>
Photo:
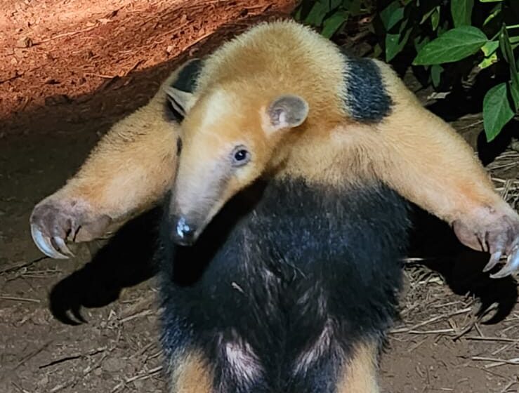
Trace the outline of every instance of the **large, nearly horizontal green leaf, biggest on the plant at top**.
<path fill-rule="evenodd" d="M 487 43 L 488 39 L 480 29 L 473 26 L 460 26 L 440 35 L 423 46 L 414 65 L 442 64 L 455 62 L 473 55 Z"/>

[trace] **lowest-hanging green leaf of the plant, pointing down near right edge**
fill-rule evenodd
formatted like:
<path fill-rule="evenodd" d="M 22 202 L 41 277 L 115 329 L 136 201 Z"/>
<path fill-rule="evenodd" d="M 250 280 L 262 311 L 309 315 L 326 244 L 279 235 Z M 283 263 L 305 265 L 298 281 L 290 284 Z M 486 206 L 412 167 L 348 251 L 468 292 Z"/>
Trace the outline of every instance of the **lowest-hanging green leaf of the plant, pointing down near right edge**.
<path fill-rule="evenodd" d="M 483 99 L 483 125 L 488 142 L 496 138 L 513 117 L 506 90 L 506 84 L 499 84 L 487 91 Z"/>

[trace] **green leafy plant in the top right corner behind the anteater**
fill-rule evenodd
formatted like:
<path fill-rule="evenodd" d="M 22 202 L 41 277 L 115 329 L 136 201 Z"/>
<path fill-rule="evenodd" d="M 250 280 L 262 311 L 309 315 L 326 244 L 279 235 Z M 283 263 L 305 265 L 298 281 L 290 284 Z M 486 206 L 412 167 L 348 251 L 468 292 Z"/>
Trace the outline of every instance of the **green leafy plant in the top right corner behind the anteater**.
<path fill-rule="evenodd" d="M 519 0 L 303 0 L 296 18 L 332 36 L 358 15 L 372 15 L 373 55 L 414 58 L 436 89 L 452 88 L 486 69 L 493 87 L 483 124 L 493 140 L 519 109 Z"/>

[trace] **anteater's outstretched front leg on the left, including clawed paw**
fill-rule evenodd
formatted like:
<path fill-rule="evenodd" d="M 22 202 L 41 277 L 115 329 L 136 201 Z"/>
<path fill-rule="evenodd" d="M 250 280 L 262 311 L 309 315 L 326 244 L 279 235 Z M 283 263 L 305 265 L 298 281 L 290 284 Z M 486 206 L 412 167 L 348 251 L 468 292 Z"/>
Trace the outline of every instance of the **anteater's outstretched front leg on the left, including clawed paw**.
<path fill-rule="evenodd" d="M 166 88 L 192 88 L 200 60 L 169 76 L 150 102 L 112 126 L 78 173 L 34 208 L 31 233 L 51 258 L 68 258 L 69 241 L 90 241 L 117 229 L 164 196 L 176 172 L 180 115 Z"/>

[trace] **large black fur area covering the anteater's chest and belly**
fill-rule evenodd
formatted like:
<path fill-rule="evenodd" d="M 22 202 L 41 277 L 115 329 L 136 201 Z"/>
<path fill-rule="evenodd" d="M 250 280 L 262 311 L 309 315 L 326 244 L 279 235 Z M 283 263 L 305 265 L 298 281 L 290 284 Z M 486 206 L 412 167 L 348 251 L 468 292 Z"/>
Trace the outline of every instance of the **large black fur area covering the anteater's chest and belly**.
<path fill-rule="evenodd" d="M 183 349 L 202 350 L 215 392 L 333 393 L 352 347 L 380 342 L 398 316 L 407 204 L 383 185 L 258 182 L 192 247 L 171 244 L 164 218 L 157 258 L 165 356 L 175 368 Z M 325 327 L 322 356 L 296 371 Z M 254 378 L 235 373 L 223 347 L 233 338 L 258 359 Z"/>

